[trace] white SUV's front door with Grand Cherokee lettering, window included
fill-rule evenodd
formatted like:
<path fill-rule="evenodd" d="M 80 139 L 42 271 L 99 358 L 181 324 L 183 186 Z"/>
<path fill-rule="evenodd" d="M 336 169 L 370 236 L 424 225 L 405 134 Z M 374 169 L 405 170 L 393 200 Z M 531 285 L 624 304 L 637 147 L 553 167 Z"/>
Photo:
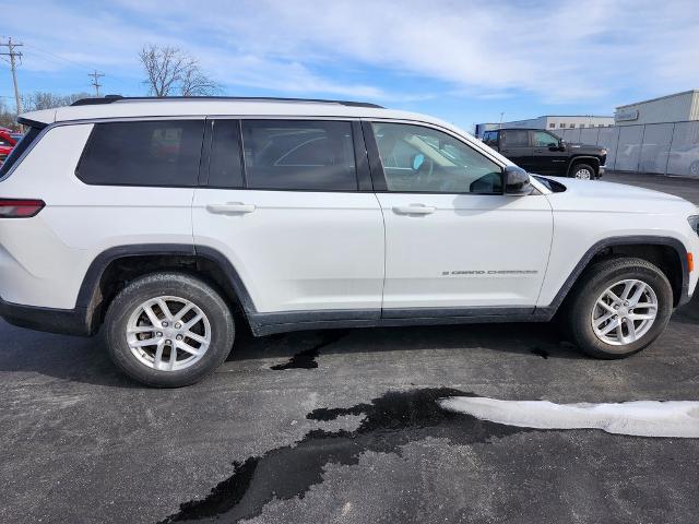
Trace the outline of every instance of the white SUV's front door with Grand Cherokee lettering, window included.
<path fill-rule="evenodd" d="M 372 122 L 365 135 L 384 184 L 382 314 L 533 311 L 553 234 L 546 196 L 502 194 L 501 166 L 445 131 Z"/>

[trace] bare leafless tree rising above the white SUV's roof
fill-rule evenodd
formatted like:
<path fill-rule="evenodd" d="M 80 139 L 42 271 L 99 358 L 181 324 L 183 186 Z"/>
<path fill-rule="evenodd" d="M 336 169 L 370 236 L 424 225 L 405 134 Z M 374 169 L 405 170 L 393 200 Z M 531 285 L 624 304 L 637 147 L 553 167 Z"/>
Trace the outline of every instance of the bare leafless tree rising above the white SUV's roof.
<path fill-rule="evenodd" d="M 202 71 L 199 60 L 177 47 L 147 45 L 139 53 L 147 76 L 149 93 L 157 97 L 212 95 L 216 82 Z"/>

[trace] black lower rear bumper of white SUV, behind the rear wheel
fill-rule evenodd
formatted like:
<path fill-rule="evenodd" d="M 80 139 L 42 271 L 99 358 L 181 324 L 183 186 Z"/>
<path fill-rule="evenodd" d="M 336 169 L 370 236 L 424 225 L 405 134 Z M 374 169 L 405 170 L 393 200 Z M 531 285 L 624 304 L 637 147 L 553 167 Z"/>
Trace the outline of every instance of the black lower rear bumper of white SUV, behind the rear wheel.
<path fill-rule="evenodd" d="M 23 306 L 0 298 L 0 317 L 7 322 L 31 330 L 64 335 L 90 336 L 92 330 L 84 308 L 54 309 Z"/>

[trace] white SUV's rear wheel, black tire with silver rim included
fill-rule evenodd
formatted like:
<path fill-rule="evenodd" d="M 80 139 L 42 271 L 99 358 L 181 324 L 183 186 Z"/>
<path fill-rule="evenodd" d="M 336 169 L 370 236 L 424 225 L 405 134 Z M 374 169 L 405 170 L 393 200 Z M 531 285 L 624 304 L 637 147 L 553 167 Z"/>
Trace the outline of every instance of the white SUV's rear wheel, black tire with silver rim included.
<path fill-rule="evenodd" d="M 235 336 L 225 300 L 204 282 L 156 273 L 130 283 L 107 311 L 109 355 L 129 377 L 177 388 L 212 373 Z"/>

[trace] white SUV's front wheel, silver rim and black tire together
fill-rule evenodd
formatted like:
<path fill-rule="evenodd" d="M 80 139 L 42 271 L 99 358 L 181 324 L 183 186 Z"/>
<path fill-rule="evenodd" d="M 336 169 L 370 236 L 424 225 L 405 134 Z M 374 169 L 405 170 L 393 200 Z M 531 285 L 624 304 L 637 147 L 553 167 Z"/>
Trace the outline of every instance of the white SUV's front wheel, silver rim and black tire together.
<path fill-rule="evenodd" d="M 657 338 L 673 311 L 673 290 L 655 265 L 641 259 L 609 259 L 580 277 L 567 308 L 573 342 L 585 354 L 624 358 Z"/>

